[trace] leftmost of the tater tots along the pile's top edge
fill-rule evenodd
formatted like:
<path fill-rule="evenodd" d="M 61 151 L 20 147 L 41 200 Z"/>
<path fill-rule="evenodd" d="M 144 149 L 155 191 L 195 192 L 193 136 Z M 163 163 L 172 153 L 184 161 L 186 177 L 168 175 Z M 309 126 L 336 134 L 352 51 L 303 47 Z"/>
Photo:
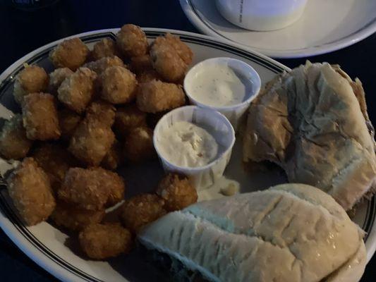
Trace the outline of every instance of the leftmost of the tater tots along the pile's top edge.
<path fill-rule="evenodd" d="M 89 49 L 80 38 L 67 39 L 49 53 L 49 59 L 55 68 L 70 68 L 75 71 L 85 63 Z"/>

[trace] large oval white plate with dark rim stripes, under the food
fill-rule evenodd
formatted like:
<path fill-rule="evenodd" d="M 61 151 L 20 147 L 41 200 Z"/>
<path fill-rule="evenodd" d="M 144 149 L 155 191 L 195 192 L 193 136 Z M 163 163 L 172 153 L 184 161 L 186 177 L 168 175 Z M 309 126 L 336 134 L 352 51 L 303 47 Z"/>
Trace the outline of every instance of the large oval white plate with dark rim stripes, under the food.
<path fill-rule="evenodd" d="M 89 46 L 92 46 L 99 39 L 104 37 L 114 38 L 117 30 L 99 30 L 76 35 L 83 39 Z M 277 73 L 289 70 L 280 63 L 268 59 L 266 56 L 245 51 L 238 44 L 229 44 L 219 39 L 196 35 L 189 32 L 176 30 L 160 30 L 146 28 L 147 37 L 153 39 L 164 32 L 171 32 L 179 35 L 183 42 L 186 42 L 195 54 L 194 63 L 218 56 L 228 56 L 241 59 L 249 63 L 260 74 L 263 83 L 272 79 Z M 47 44 L 40 49 L 32 51 L 22 59 L 13 63 L 4 73 L 0 75 L 0 116 L 9 118 L 11 112 L 19 111 L 18 106 L 13 102 L 13 78 L 23 69 L 23 63 L 36 63 L 51 71 L 52 66 L 47 59 L 48 52 L 61 40 Z M 7 168 L 4 161 L 0 161 L 0 171 Z M 140 166 L 123 167 L 119 170 L 127 183 L 126 197 L 139 192 L 151 191 L 162 176 L 162 167 L 158 161 L 151 161 Z M 226 169 L 225 178 L 212 190 L 218 190 L 229 182 L 240 185 L 241 192 L 249 192 L 267 188 L 270 185 L 286 182 L 279 170 L 265 172 L 245 172 L 241 166 L 241 146 L 236 144 L 231 157 L 229 167 Z M 62 233 L 47 222 L 37 226 L 26 227 L 19 219 L 11 201 L 8 198 L 6 188 L 0 185 L 0 226 L 5 233 L 13 240 L 28 257 L 37 264 L 49 271 L 62 281 L 160 281 L 157 273 L 146 268 L 145 262 L 133 252 L 131 255 L 123 255 L 108 262 L 96 262 L 80 257 L 79 248 L 74 240 L 68 239 L 68 234 Z M 200 194 L 200 200 L 213 197 L 207 192 Z M 214 197 L 219 194 L 214 193 Z M 368 259 L 372 257 L 376 247 L 376 228 L 373 225 L 375 220 L 376 201 L 373 197 L 365 201 L 356 210 L 353 218 L 368 235 L 365 238 Z M 74 238 L 74 236 L 73 236 Z"/>

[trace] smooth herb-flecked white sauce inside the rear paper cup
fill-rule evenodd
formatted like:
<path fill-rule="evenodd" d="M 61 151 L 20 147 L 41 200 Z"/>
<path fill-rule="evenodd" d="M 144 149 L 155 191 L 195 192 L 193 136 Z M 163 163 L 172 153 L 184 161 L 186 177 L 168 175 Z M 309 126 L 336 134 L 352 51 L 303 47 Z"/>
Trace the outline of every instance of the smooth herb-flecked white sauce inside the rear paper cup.
<path fill-rule="evenodd" d="M 250 82 L 226 64 L 207 64 L 190 85 L 190 96 L 208 106 L 233 106 L 241 104 L 251 92 Z"/>

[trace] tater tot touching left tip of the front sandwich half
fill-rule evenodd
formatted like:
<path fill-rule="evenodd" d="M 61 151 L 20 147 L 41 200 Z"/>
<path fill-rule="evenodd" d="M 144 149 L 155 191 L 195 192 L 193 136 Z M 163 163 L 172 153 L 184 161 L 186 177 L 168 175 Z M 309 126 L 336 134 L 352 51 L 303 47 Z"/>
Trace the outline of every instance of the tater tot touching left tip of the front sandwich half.
<path fill-rule="evenodd" d="M 164 200 L 153 194 L 132 197 L 123 204 L 121 220 L 131 232 L 138 233 L 142 226 L 166 214 Z"/>

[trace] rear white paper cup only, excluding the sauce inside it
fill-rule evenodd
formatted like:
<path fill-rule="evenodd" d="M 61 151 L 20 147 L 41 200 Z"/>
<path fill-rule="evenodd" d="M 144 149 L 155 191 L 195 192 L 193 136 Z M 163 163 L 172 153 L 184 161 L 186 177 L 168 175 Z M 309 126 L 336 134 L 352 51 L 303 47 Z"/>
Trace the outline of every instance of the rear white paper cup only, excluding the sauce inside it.
<path fill-rule="evenodd" d="M 209 93 L 203 90 L 202 92 L 193 94 L 194 87 L 195 87 L 195 80 L 200 79 L 205 75 L 204 71 L 205 68 L 213 68 L 215 66 L 226 66 L 229 67 L 236 75 L 241 76 L 243 78 L 242 82 L 245 83 L 245 96 L 236 104 L 230 104 L 226 106 L 213 106 L 208 102 L 203 102 L 202 97 L 204 95 L 208 95 Z M 212 109 L 215 111 L 219 111 L 221 114 L 226 116 L 229 119 L 230 123 L 234 126 L 235 130 L 238 128 L 238 124 L 240 123 L 241 119 L 245 115 L 248 107 L 250 106 L 250 102 L 257 97 L 257 94 L 260 92 L 261 88 L 261 79 L 258 75 L 257 71 L 248 63 L 240 61 L 238 59 L 231 59 L 226 57 L 219 57 L 219 58 L 212 58 L 207 59 L 205 61 L 201 61 L 200 63 L 190 68 L 188 71 L 186 78 L 184 78 L 183 82 L 184 90 L 188 96 L 190 104 L 200 106 L 202 108 Z M 201 97 L 201 99 L 200 99 Z M 219 99 L 220 97 L 218 97 Z"/>

